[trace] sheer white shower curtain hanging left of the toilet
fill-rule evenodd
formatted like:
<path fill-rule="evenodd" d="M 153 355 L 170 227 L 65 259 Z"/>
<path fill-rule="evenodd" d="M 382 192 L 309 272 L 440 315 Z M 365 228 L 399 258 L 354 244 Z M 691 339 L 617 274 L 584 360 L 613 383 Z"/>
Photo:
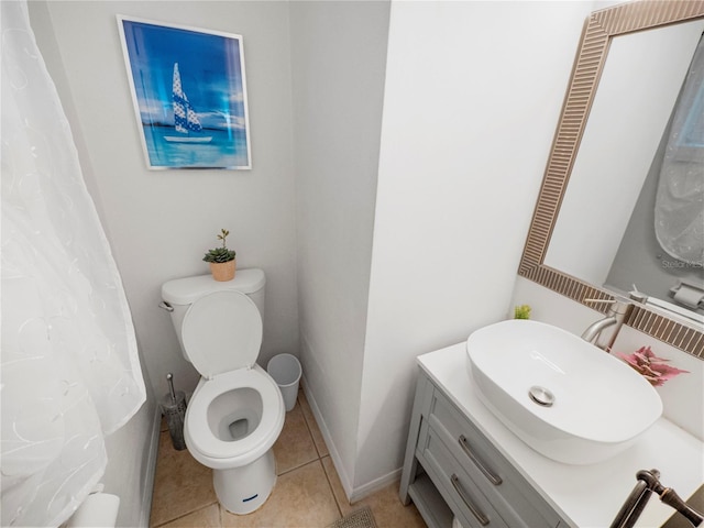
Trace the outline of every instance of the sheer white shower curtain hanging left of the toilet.
<path fill-rule="evenodd" d="M 58 526 L 145 400 L 120 275 L 24 0 L 2 0 L 2 526 Z"/>

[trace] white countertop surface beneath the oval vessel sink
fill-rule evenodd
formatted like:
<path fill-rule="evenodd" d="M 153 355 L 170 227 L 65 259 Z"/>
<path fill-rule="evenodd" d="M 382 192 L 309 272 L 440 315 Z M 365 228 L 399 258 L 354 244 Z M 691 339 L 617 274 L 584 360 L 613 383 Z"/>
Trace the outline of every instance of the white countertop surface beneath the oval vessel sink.
<path fill-rule="evenodd" d="M 472 387 L 465 343 L 424 354 L 418 363 L 574 527 L 607 528 L 636 485 L 636 473 L 640 470 L 659 470 L 662 485 L 685 501 L 704 482 L 704 443 L 664 418 L 630 449 L 610 460 L 593 465 L 563 464 L 529 448 L 479 399 Z M 636 526 L 658 528 L 673 513 L 653 494 Z"/>

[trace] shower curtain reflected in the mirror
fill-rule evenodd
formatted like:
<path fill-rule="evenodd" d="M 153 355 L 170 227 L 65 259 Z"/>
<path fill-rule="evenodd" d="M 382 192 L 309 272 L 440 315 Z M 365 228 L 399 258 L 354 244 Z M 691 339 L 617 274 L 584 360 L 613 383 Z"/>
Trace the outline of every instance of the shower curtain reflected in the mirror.
<path fill-rule="evenodd" d="M 656 195 L 656 237 L 672 257 L 704 266 L 704 38 L 674 109 Z"/>

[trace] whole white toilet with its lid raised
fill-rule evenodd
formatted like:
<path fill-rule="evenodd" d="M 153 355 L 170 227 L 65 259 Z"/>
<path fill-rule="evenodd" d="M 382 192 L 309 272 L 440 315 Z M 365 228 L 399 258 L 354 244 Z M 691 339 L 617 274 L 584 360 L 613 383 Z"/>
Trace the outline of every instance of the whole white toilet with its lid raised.
<path fill-rule="evenodd" d="M 201 375 L 186 410 L 186 446 L 212 468 L 220 504 L 240 515 L 274 487 L 272 447 L 286 414 L 276 382 L 256 364 L 264 284 L 262 270 L 238 270 L 229 282 L 200 275 L 162 286 L 184 356 Z"/>

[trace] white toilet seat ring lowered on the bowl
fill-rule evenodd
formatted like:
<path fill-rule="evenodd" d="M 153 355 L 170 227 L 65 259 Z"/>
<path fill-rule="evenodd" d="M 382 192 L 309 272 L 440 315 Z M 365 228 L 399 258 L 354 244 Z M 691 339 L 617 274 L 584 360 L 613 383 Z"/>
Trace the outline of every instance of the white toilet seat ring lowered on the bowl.
<path fill-rule="evenodd" d="M 208 407 L 223 393 L 237 388 L 252 388 L 262 398 L 262 418 L 257 427 L 240 440 L 220 440 L 208 425 Z M 228 463 L 246 464 L 264 454 L 284 427 L 284 398 L 272 377 L 258 365 L 238 369 L 202 380 L 186 410 L 186 443 L 194 455 L 228 459 Z M 196 458 L 198 458 L 196 455 Z"/>

